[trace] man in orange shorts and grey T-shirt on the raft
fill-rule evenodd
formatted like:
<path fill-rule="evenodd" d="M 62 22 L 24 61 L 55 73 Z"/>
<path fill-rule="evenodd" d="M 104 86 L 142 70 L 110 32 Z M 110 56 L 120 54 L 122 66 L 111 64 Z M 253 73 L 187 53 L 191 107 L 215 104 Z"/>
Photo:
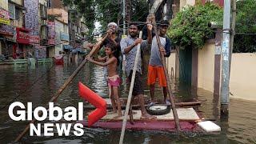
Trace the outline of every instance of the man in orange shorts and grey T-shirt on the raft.
<path fill-rule="evenodd" d="M 170 56 L 171 43 L 170 38 L 166 38 L 166 31 L 170 23 L 168 21 L 160 22 L 160 26 L 158 26 L 158 34 L 161 42 L 160 50 L 164 52 L 165 57 Z M 150 95 L 151 95 L 151 105 L 156 102 L 154 98 L 154 84 L 156 79 L 158 78 L 159 85 L 162 86 L 164 102 L 166 104 L 170 104 L 170 101 L 166 100 L 167 97 L 167 85 L 166 85 L 166 77 L 163 70 L 161 54 L 158 49 L 158 42 L 156 36 L 154 36 L 151 45 L 151 54 L 150 54 L 150 63 L 148 68 L 148 80 L 147 84 L 150 86 Z"/>

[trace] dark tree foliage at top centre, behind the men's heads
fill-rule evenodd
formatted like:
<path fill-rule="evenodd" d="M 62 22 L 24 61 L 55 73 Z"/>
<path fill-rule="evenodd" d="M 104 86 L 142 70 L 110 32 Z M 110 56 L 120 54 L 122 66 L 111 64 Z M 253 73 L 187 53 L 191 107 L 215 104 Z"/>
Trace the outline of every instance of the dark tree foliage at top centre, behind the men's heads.
<path fill-rule="evenodd" d="M 65 6 L 75 6 L 85 18 L 89 34 L 94 30 L 94 22 L 100 22 L 101 30 L 106 30 L 109 22 L 122 23 L 122 1 L 120 0 L 62 0 Z M 130 20 L 146 21 L 148 6 L 145 0 L 130 0 Z M 74 13 L 75 16 L 78 14 Z"/>

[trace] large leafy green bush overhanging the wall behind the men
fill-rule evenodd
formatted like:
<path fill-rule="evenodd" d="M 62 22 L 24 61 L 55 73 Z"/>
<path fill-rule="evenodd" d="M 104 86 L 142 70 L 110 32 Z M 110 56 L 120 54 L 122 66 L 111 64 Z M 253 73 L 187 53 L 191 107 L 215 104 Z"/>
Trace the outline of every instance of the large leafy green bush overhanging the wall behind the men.
<path fill-rule="evenodd" d="M 209 22 L 222 22 L 222 8 L 212 3 L 188 6 L 171 21 L 167 35 L 176 46 L 202 49 L 206 39 L 213 38 Z"/>

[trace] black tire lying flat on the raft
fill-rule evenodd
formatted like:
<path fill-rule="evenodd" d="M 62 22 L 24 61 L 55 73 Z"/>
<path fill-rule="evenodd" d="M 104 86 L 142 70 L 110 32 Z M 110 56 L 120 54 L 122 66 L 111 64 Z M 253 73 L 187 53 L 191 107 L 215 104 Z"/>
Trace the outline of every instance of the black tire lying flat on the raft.
<path fill-rule="evenodd" d="M 166 106 L 166 105 L 146 106 L 146 111 L 151 115 L 164 115 L 164 114 L 170 113 L 170 106 Z"/>

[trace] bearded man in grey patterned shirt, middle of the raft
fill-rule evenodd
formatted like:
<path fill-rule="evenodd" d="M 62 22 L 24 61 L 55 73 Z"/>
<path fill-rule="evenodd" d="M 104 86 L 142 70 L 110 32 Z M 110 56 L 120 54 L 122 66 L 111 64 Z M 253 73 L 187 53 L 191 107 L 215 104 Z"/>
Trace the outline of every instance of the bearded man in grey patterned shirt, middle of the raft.
<path fill-rule="evenodd" d="M 153 26 L 148 24 L 147 25 L 147 40 L 142 40 L 142 38 L 138 37 L 138 25 L 132 23 L 130 24 L 129 28 L 129 36 L 127 38 L 122 38 L 120 42 L 122 54 L 126 55 L 126 75 L 128 76 L 129 82 L 131 82 L 132 74 L 133 74 L 133 67 L 136 57 L 136 52 L 138 48 L 138 44 L 141 43 L 141 48 L 146 48 L 147 44 L 152 42 L 152 30 Z M 143 96 L 143 89 L 142 89 L 142 58 L 138 57 L 138 67 L 135 74 L 134 79 L 134 89 L 133 89 L 133 96 L 138 98 L 139 105 L 141 106 L 142 110 L 142 118 L 141 119 L 156 119 L 156 117 L 148 114 L 145 109 L 144 103 L 144 96 Z"/>

